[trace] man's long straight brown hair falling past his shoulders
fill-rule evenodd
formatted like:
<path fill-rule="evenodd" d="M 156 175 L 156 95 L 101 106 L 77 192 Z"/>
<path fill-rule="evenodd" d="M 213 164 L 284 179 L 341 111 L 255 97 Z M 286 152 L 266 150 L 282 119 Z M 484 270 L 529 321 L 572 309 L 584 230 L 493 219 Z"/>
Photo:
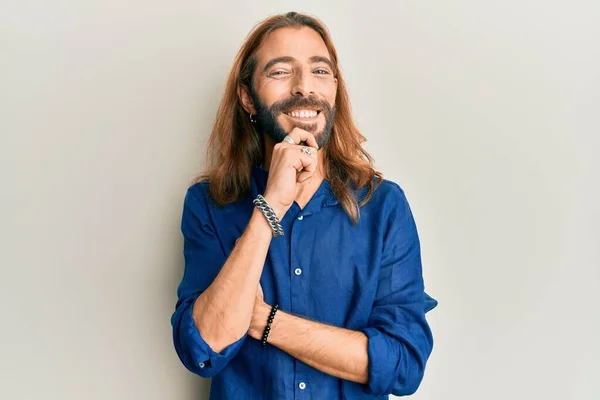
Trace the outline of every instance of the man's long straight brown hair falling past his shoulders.
<path fill-rule="evenodd" d="M 269 33 L 284 27 L 315 30 L 329 50 L 338 87 L 333 130 L 322 149 L 323 170 L 336 199 L 352 222 L 357 224 L 359 207 L 370 200 L 383 175 L 374 169 L 373 158 L 361 145 L 366 139 L 352 120 L 348 92 L 329 31 L 321 21 L 306 14 L 289 12 L 275 15 L 257 24 L 250 32 L 227 79 L 208 141 L 206 169 L 193 183 L 208 181 L 210 196 L 219 205 L 235 202 L 249 192 L 252 167 L 263 162 L 264 139 L 262 133 L 254 130 L 242 107 L 238 88 L 239 85 L 252 87 L 258 48 Z M 378 178 L 376 182 L 375 177 Z M 368 185 L 366 195 L 362 200 L 358 199 L 357 191 L 365 185 Z"/>

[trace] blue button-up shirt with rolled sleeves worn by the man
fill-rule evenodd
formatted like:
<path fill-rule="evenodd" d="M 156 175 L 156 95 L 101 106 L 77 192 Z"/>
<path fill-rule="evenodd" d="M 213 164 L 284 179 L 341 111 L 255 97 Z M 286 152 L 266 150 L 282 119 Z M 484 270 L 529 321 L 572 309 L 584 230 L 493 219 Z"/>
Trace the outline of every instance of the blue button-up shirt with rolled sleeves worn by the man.
<path fill-rule="evenodd" d="M 186 193 L 181 231 L 185 268 L 171 318 L 175 349 L 192 372 L 212 378 L 211 400 L 388 399 L 417 390 L 433 347 L 425 313 L 415 222 L 403 190 L 383 179 L 360 208 L 358 225 L 324 180 L 304 209 L 294 202 L 271 241 L 260 278 L 280 310 L 368 337 L 369 382 L 327 375 L 246 333 L 215 353 L 192 319 L 194 300 L 214 280 L 264 194 L 268 171 L 254 167 L 251 193 L 218 207 L 199 182 Z M 359 199 L 366 193 L 359 190 Z"/>

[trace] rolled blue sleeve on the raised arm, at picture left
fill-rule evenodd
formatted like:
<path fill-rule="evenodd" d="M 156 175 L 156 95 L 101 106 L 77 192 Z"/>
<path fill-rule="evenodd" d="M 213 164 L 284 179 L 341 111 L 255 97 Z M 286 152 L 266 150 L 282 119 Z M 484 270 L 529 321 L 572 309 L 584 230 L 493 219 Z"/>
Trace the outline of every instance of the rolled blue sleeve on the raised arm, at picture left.
<path fill-rule="evenodd" d="M 248 333 L 216 353 L 204 341 L 192 318 L 194 302 L 216 278 L 226 256 L 208 213 L 206 191 L 194 195 L 191 189 L 188 189 L 183 204 L 181 232 L 185 265 L 171 325 L 175 351 L 181 362 L 193 373 L 210 378 L 237 354 Z"/>

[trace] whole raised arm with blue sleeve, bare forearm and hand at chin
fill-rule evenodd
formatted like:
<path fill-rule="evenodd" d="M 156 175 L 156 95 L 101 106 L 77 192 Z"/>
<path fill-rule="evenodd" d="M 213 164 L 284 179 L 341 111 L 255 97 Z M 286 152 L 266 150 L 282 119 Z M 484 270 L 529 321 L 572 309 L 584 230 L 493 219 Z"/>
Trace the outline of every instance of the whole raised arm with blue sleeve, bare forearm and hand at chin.
<path fill-rule="evenodd" d="M 317 141 L 311 133 L 295 128 L 288 136 L 294 143 L 306 141 L 315 152 L 302 154 L 297 145 L 287 142 L 273 147 L 264 197 L 280 220 L 293 203 L 297 184 L 316 172 L 318 160 Z M 192 188 L 186 194 L 181 222 L 185 271 L 172 317 L 173 335 L 183 363 L 199 375 L 213 376 L 235 356 L 248 335 L 273 233 L 262 212 L 254 208 L 227 257 L 212 225 L 208 184 Z"/>

